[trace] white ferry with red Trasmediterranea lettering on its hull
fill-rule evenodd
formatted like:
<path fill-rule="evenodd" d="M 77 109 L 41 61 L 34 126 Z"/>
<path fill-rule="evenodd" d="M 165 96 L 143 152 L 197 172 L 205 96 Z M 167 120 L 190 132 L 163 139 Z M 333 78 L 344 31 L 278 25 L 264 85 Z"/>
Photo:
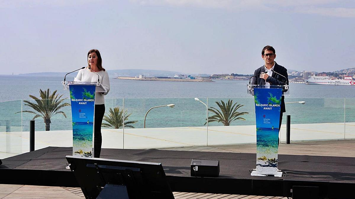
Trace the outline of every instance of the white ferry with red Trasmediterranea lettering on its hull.
<path fill-rule="evenodd" d="M 323 84 L 323 85 L 355 85 L 355 81 L 351 76 L 345 76 L 344 79 L 334 79 L 329 76 L 308 76 L 305 79 L 306 84 Z"/>

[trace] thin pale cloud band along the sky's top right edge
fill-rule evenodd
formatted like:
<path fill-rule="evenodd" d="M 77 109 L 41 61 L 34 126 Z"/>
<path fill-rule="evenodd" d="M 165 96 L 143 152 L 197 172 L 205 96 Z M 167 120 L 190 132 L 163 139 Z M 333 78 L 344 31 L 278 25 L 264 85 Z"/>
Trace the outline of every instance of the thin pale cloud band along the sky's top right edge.
<path fill-rule="evenodd" d="M 294 12 L 332 17 L 355 17 L 355 7 L 337 7 L 339 0 L 130 0 L 139 5 L 169 5 L 179 7 L 204 7 L 226 10 L 263 10 Z M 344 3 L 343 3 L 344 4 Z"/>

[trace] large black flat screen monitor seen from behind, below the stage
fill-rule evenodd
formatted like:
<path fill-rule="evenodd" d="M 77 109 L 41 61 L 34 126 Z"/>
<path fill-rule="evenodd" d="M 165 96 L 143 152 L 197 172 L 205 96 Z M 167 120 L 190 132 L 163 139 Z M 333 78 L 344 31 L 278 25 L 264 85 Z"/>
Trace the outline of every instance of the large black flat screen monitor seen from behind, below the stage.
<path fill-rule="evenodd" d="M 115 194 L 113 198 L 117 198 L 117 191 L 123 195 L 126 192 L 129 199 L 174 199 L 161 163 L 73 156 L 66 159 L 87 199 L 103 194 Z"/>

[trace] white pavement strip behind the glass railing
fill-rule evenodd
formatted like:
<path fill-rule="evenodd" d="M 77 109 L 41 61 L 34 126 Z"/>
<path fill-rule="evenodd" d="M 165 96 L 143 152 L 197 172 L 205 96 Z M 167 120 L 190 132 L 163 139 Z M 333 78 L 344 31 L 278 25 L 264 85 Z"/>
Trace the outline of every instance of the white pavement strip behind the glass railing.
<path fill-rule="evenodd" d="M 123 133 L 124 131 L 124 133 Z M 286 141 L 286 126 L 281 127 Z M 256 142 L 256 126 L 102 129 L 102 148 L 164 148 Z M 292 124 L 291 141 L 355 139 L 355 123 Z M 36 131 L 35 150 L 72 147 L 72 131 Z M 0 132 L 0 159 L 29 151 L 29 132 Z"/>

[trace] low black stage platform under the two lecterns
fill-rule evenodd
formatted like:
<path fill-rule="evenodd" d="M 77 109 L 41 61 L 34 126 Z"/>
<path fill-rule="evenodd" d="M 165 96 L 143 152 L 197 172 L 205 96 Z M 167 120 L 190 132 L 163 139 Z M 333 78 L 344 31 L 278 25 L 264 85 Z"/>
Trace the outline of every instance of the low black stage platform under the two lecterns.
<path fill-rule="evenodd" d="M 71 153 L 71 147 L 47 147 L 3 159 L 0 183 L 78 187 L 65 169 L 65 156 Z M 250 176 L 256 154 L 249 153 L 102 149 L 101 158 L 162 163 L 175 192 L 292 197 L 293 188 L 318 187 L 320 198 L 355 198 L 355 158 L 279 155 L 279 169 L 287 172 L 286 177 Z M 220 177 L 191 177 L 192 159 L 218 159 Z"/>

